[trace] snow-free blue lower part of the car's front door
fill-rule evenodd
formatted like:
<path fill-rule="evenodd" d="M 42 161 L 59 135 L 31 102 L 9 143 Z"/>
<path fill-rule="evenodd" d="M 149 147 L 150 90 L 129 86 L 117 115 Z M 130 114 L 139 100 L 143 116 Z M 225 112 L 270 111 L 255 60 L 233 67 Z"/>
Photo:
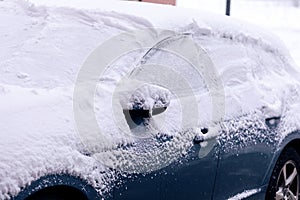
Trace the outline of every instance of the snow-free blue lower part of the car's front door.
<path fill-rule="evenodd" d="M 113 199 L 212 199 L 218 152 L 213 148 L 206 158 L 199 159 L 200 148 L 194 144 L 187 156 L 162 170 L 123 178 Z"/>

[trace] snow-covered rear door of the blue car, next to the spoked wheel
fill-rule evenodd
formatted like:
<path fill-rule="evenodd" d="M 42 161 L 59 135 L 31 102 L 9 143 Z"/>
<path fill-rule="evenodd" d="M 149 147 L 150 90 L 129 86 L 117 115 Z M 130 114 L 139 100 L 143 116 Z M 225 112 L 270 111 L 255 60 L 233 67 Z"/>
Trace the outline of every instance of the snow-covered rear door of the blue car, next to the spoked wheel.
<path fill-rule="evenodd" d="M 288 63 L 251 42 L 214 39 L 205 45 L 224 85 L 218 172 L 213 199 L 255 197 L 264 190 L 298 84 Z M 294 80 L 293 80 L 294 79 Z M 264 195 L 264 194 L 260 194 Z"/>

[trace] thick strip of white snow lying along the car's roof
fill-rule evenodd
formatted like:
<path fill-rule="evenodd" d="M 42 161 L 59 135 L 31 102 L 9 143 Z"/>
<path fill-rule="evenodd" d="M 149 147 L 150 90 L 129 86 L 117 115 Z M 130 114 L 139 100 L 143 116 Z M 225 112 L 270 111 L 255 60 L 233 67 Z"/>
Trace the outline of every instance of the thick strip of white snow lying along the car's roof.
<path fill-rule="evenodd" d="M 140 22 L 145 26 L 165 28 L 171 30 L 196 29 L 195 34 L 217 34 L 236 41 L 261 45 L 273 51 L 286 51 L 280 39 L 263 27 L 251 25 L 244 21 L 228 16 L 209 13 L 200 9 L 188 9 L 171 5 L 160 5 L 146 2 L 132 2 L 114 0 L 88 0 L 82 4 L 81 0 L 72 1 L 48 1 L 30 0 L 36 5 L 53 7 L 66 7 L 78 10 L 90 10 L 96 12 L 115 12 L 127 15 L 127 19 Z M 286 52 L 285 52 L 286 53 Z"/>

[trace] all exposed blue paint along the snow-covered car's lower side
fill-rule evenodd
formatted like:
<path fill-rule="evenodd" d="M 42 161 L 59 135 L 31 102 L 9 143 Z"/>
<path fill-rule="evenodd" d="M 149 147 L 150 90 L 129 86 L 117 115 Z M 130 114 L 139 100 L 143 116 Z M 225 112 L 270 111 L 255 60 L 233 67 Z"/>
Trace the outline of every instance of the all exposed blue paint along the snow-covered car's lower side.
<path fill-rule="evenodd" d="M 149 174 L 120 176 L 111 193 L 103 198 L 219 200 L 245 190 L 259 189 L 259 192 L 245 199 L 265 199 L 268 182 L 280 153 L 291 141 L 299 139 L 299 134 L 297 131 L 290 133 L 280 143 L 262 141 L 246 146 L 238 144 L 238 148 L 229 151 L 224 151 L 226 145 L 219 143 L 201 159 L 198 157 L 201 146 L 193 144 L 187 155 L 168 167 Z M 88 199 L 102 199 L 84 180 L 66 174 L 40 178 L 14 199 L 22 200 L 40 189 L 57 185 L 74 187 Z"/>

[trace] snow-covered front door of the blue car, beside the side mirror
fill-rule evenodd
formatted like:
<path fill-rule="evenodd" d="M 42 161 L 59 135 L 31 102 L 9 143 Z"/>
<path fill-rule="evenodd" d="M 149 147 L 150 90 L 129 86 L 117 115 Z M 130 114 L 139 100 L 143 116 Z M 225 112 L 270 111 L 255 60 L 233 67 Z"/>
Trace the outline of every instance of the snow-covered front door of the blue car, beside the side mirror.
<path fill-rule="evenodd" d="M 152 127 L 156 127 L 152 134 L 154 140 L 140 140 L 144 143 L 140 148 L 147 143 L 147 151 L 157 149 L 158 152 L 153 151 L 157 155 L 153 161 L 160 164 L 150 172 L 130 176 L 115 190 L 114 197 L 210 199 L 218 165 L 216 138 L 219 132 L 218 124 L 211 121 L 217 121 L 219 116 L 216 115 L 220 115 L 222 109 L 213 109 L 213 103 L 218 101 L 218 106 L 222 107 L 222 93 L 221 100 L 213 99 L 215 88 L 210 88 L 212 86 L 208 83 L 215 78 L 214 66 L 189 35 L 166 39 L 150 49 L 142 60 L 143 65 L 131 73 L 131 78 L 162 86 L 172 96 L 164 112 L 154 114 L 153 110 L 148 119 L 148 123 L 150 121 Z M 201 67 L 195 67 L 197 62 Z M 153 91 L 147 87 L 138 91 Z M 219 112 L 213 113 L 215 110 Z"/>

